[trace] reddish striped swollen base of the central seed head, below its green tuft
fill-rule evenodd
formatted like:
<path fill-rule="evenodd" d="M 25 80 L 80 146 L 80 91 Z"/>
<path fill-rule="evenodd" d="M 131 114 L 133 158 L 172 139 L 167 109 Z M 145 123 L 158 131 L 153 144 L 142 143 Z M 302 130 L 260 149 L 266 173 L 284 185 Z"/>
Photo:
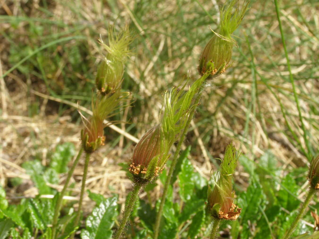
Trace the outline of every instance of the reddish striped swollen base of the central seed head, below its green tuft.
<path fill-rule="evenodd" d="M 148 130 L 137 143 L 129 171 L 138 178 L 151 181 L 162 172 L 167 158 L 163 129 L 159 124 Z"/>

